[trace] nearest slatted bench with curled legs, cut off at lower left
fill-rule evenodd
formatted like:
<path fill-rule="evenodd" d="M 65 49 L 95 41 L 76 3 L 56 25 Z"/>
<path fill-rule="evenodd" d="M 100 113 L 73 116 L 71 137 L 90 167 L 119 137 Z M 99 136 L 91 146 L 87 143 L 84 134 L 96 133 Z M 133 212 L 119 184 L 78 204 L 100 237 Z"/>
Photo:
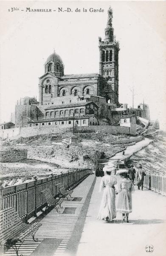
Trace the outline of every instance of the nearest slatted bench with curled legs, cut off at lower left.
<path fill-rule="evenodd" d="M 0 245 L 1 247 L 6 247 L 9 249 L 12 247 L 16 255 L 18 256 L 18 251 L 20 244 L 17 245 L 17 242 L 23 244 L 23 241 L 31 235 L 34 241 L 35 233 L 42 224 L 35 222 L 34 224 L 25 224 L 22 221 L 20 216 L 14 210 L 14 208 L 7 208 L 0 210 Z"/>

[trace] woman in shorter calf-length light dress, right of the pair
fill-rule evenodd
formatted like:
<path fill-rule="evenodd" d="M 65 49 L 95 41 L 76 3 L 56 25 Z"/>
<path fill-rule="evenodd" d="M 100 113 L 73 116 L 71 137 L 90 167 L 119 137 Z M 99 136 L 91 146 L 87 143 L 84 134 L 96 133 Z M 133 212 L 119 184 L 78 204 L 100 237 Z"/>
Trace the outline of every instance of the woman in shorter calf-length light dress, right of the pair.
<path fill-rule="evenodd" d="M 122 213 L 122 223 L 129 222 L 129 213 L 132 212 L 132 191 L 134 185 L 129 179 L 127 170 L 119 170 L 116 174 L 120 174 L 123 179 L 118 183 L 118 204 L 117 212 Z"/>

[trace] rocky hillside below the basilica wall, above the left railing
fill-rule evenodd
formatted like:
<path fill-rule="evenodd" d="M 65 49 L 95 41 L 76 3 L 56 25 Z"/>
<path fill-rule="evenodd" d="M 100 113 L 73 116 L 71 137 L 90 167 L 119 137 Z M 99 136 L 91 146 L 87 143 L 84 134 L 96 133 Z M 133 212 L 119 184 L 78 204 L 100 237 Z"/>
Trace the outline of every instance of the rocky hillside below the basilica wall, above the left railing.
<path fill-rule="evenodd" d="M 28 159 L 1 163 L 0 176 L 4 186 L 48 177 L 51 173 L 75 169 L 96 169 L 97 161 L 123 151 L 127 144 L 111 144 L 115 140 L 128 139 L 127 135 L 77 134 L 79 145 L 68 145 L 70 134 L 38 135 L 12 141 L 1 141 L 1 150 L 21 149 L 28 151 Z M 86 157 L 89 160 L 86 160 Z"/>

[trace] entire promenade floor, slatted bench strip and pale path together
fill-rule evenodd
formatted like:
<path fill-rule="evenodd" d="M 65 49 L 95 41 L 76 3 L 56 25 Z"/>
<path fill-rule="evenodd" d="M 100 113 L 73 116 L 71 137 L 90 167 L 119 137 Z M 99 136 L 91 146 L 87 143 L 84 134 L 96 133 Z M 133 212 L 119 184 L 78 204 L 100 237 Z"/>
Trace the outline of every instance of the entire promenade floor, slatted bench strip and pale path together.
<path fill-rule="evenodd" d="M 98 221 L 100 180 L 101 177 L 88 176 L 74 189 L 72 199 L 63 202 L 59 214 L 53 209 L 45 215 L 36 233 L 39 241 L 34 242 L 29 236 L 19 255 L 147 256 L 145 247 L 152 244 L 152 256 L 165 256 L 166 197 L 149 190 L 136 190 L 130 223 L 121 224 L 121 214 L 117 214 L 113 223 Z M 15 253 L 10 249 L 4 255 Z"/>

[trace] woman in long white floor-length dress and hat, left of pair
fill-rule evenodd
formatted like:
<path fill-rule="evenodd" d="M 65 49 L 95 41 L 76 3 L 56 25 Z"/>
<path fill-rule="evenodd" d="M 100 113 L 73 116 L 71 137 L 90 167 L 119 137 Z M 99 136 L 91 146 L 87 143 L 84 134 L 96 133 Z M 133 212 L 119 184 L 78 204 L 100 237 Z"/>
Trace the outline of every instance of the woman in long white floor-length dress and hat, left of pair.
<path fill-rule="evenodd" d="M 115 208 L 115 187 L 117 183 L 116 178 L 111 175 L 115 168 L 112 163 L 103 168 L 104 176 L 101 178 L 100 192 L 104 189 L 103 196 L 101 199 L 101 205 L 98 212 L 98 220 L 106 220 L 107 222 L 112 221 L 116 218 Z"/>

